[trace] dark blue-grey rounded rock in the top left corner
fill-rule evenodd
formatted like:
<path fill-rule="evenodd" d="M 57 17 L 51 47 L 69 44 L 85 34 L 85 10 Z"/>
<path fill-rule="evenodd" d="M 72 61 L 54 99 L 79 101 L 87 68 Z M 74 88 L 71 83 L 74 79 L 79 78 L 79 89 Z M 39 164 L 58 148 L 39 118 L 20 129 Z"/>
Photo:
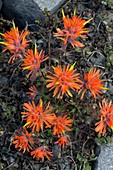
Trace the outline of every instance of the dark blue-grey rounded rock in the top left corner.
<path fill-rule="evenodd" d="M 42 10 L 34 0 L 4 0 L 3 12 L 8 19 L 14 19 L 16 25 L 20 28 L 28 24 L 34 24 L 31 29 L 37 29 L 35 20 L 44 20 Z"/>

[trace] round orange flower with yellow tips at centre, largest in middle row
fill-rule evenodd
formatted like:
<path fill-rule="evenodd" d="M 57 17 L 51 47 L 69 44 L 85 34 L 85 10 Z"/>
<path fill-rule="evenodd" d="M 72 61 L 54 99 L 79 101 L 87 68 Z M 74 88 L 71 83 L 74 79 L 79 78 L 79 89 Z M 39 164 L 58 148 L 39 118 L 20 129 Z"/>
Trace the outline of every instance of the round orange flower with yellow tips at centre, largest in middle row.
<path fill-rule="evenodd" d="M 73 69 L 74 65 L 75 64 L 71 67 L 70 65 L 67 67 L 64 66 L 63 68 L 61 68 L 60 65 L 53 67 L 54 73 L 50 72 L 52 76 L 46 76 L 48 78 L 46 81 L 49 82 L 46 87 L 50 88 L 50 90 L 55 89 L 53 97 L 57 95 L 58 98 L 62 98 L 64 94 L 72 97 L 70 89 L 75 90 L 80 88 L 80 85 L 78 84 L 81 82 L 79 80 L 79 73 L 74 74 L 76 71 L 76 69 Z"/>

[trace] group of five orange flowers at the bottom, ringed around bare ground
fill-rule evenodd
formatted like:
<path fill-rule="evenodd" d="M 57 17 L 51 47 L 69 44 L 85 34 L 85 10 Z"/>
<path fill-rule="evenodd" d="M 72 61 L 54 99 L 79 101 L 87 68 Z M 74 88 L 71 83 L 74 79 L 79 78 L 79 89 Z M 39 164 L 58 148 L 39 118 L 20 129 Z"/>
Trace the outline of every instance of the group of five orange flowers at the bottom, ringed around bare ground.
<path fill-rule="evenodd" d="M 55 144 L 64 148 L 64 145 L 69 145 L 65 132 L 70 131 L 69 127 L 72 126 L 73 122 L 73 120 L 66 115 L 56 117 L 54 113 L 50 113 L 52 108 L 49 108 L 49 105 L 50 102 L 44 109 L 41 99 L 38 106 L 35 105 L 34 101 L 24 103 L 23 108 L 25 112 L 21 112 L 21 114 L 22 119 L 26 120 L 26 124 L 24 125 L 24 128 L 16 131 L 16 136 L 14 136 L 13 141 L 15 148 L 18 148 L 19 151 L 23 150 L 23 153 L 28 151 L 33 158 L 41 158 L 42 162 L 44 161 L 44 157 L 50 160 L 49 156 L 53 156 L 53 154 L 44 146 L 36 148 L 36 140 L 32 137 L 32 133 L 43 130 L 44 124 L 46 125 L 46 128 L 51 128 L 53 126 L 53 134 L 58 135 L 59 138 Z M 31 128 L 32 133 L 28 133 L 25 127 Z"/>

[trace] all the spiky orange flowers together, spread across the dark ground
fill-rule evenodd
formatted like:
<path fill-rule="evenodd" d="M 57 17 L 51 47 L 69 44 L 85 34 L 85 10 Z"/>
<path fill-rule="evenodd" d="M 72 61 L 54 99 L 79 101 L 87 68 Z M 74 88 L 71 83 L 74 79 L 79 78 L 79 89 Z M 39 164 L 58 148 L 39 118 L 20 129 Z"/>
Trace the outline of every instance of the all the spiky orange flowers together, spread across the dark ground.
<path fill-rule="evenodd" d="M 64 11 L 62 11 L 62 13 L 64 29 L 61 30 L 57 28 L 57 33 L 54 33 L 54 36 L 61 37 L 60 39 L 63 41 L 64 49 L 66 49 L 68 43 L 71 43 L 73 47 L 83 47 L 84 44 L 77 41 L 77 38 L 87 38 L 88 28 L 84 28 L 84 26 L 92 19 L 88 21 L 83 20 L 79 16 L 76 16 L 76 11 L 74 11 L 72 18 L 69 18 L 69 16 L 66 17 Z M 9 59 L 9 63 L 11 61 L 14 62 L 18 58 L 22 58 L 22 70 L 28 70 L 27 78 L 33 78 L 36 77 L 37 72 L 41 75 L 41 63 L 46 61 L 48 57 L 44 55 L 43 50 L 38 52 L 36 44 L 34 51 L 28 49 L 28 51 L 25 52 L 25 48 L 30 41 L 26 39 L 26 36 L 29 34 L 29 31 L 22 31 L 19 33 L 18 28 L 16 28 L 13 23 L 13 28 L 9 32 L 1 34 L 5 42 L 0 43 L 6 46 L 4 51 L 9 50 L 13 54 Z M 74 69 L 74 66 L 75 63 L 73 65 L 64 65 L 63 67 L 58 65 L 53 67 L 54 73 L 49 72 L 50 75 L 46 76 L 46 87 L 49 88 L 50 91 L 54 90 L 53 97 L 57 96 L 57 98 L 60 99 L 62 99 L 64 95 L 73 97 L 71 92 L 73 90 L 78 92 L 78 94 L 82 93 L 81 99 L 87 91 L 96 99 L 97 96 L 102 94 L 101 90 L 107 90 L 103 84 L 105 80 L 100 79 L 102 75 L 100 70 L 96 70 L 96 68 L 92 67 L 84 74 L 83 81 L 81 81 L 80 74 L 75 73 L 76 69 Z M 58 137 L 58 141 L 54 143 L 64 148 L 65 145 L 70 144 L 66 132 L 71 131 L 70 128 L 73 120 L 66 114 L 63 116 L 56 116 L 53 112 L 53 108 L 50 107 L 50 102 L 44 107 L 42 99 L 40 99 L 39 104 L 36 105 L 34 99 L 37 95 L 37 89 L 35 86 L 31 86 L 29 90 L 30 92 L 27 92 L 27 94 L 30 96 L 31 102 L 24 103 L 24 112 L 21 112 L 22 119 L 26 121 L 26 124 L 23 128 L 16 131 L 13 144 L 19 151 L 23 151 L 23 153 L 28 151 L 33 158 L 42 159 L 42 162 L 44 162 L 45 157 L 50 160 L 49 157 L 53 156 L 53 154 L 45 145 L 40 146 L 35 143 L 35 132 L 43 131 L 44 127 L 53 128 L 53 135 L 57 135 Z M 99 106 L 100 121 L 95 123 L 95 131 L 104 136 L 107 127 L 113 129 L 113 106 L 111 105 L 111 101 L 107 104 L 105 100 L 102 100 L 102 104 L 99 103 Z M 27 128 L 31 130 L 31 133 L 28 133 Z M 39 147 L 37 147 L 37 145 Z"/>

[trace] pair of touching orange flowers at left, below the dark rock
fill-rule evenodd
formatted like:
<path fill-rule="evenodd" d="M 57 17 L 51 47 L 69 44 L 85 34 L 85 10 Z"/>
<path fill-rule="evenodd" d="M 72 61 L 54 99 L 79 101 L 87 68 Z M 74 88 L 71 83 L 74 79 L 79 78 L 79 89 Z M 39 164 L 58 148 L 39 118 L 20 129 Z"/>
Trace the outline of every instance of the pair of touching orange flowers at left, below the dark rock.
<path fill-rule="evenodd" d="M 36 49 L 35 44 L 35 50 L 28 49 L 27 52 L 25 52 L 25 48 L 29 45 L 28 42 L 31 40 L 27 40 L 26 36 L 30 34 L 29 31 L 22 31 L 19 33 L 18 27 L 15 27 L 15 23 L 13 22 L 13 28 L 11 28 L 10 31 L 2 34 L 0 33 L 6 41 L 0 42 L 0 44 L 3 44 L 6 46 L 6 48 L 3 50 L 5 52 L 6 50 L 9 50 L 13 56 L 9 59 L 8 63 L 14 62 L 18 58 L 21 58 L 23 61 L 22 70 L 29 70 L 29 74 L 27 75 L 27 78 L 31 76 L 35 79 L 36 73 L 40 72 L 40 65 L 42 62 L 46 61 L 48 57 L 44 56 L 44 51 L 41 50 L 40 53 L 38 53 Z"/>

